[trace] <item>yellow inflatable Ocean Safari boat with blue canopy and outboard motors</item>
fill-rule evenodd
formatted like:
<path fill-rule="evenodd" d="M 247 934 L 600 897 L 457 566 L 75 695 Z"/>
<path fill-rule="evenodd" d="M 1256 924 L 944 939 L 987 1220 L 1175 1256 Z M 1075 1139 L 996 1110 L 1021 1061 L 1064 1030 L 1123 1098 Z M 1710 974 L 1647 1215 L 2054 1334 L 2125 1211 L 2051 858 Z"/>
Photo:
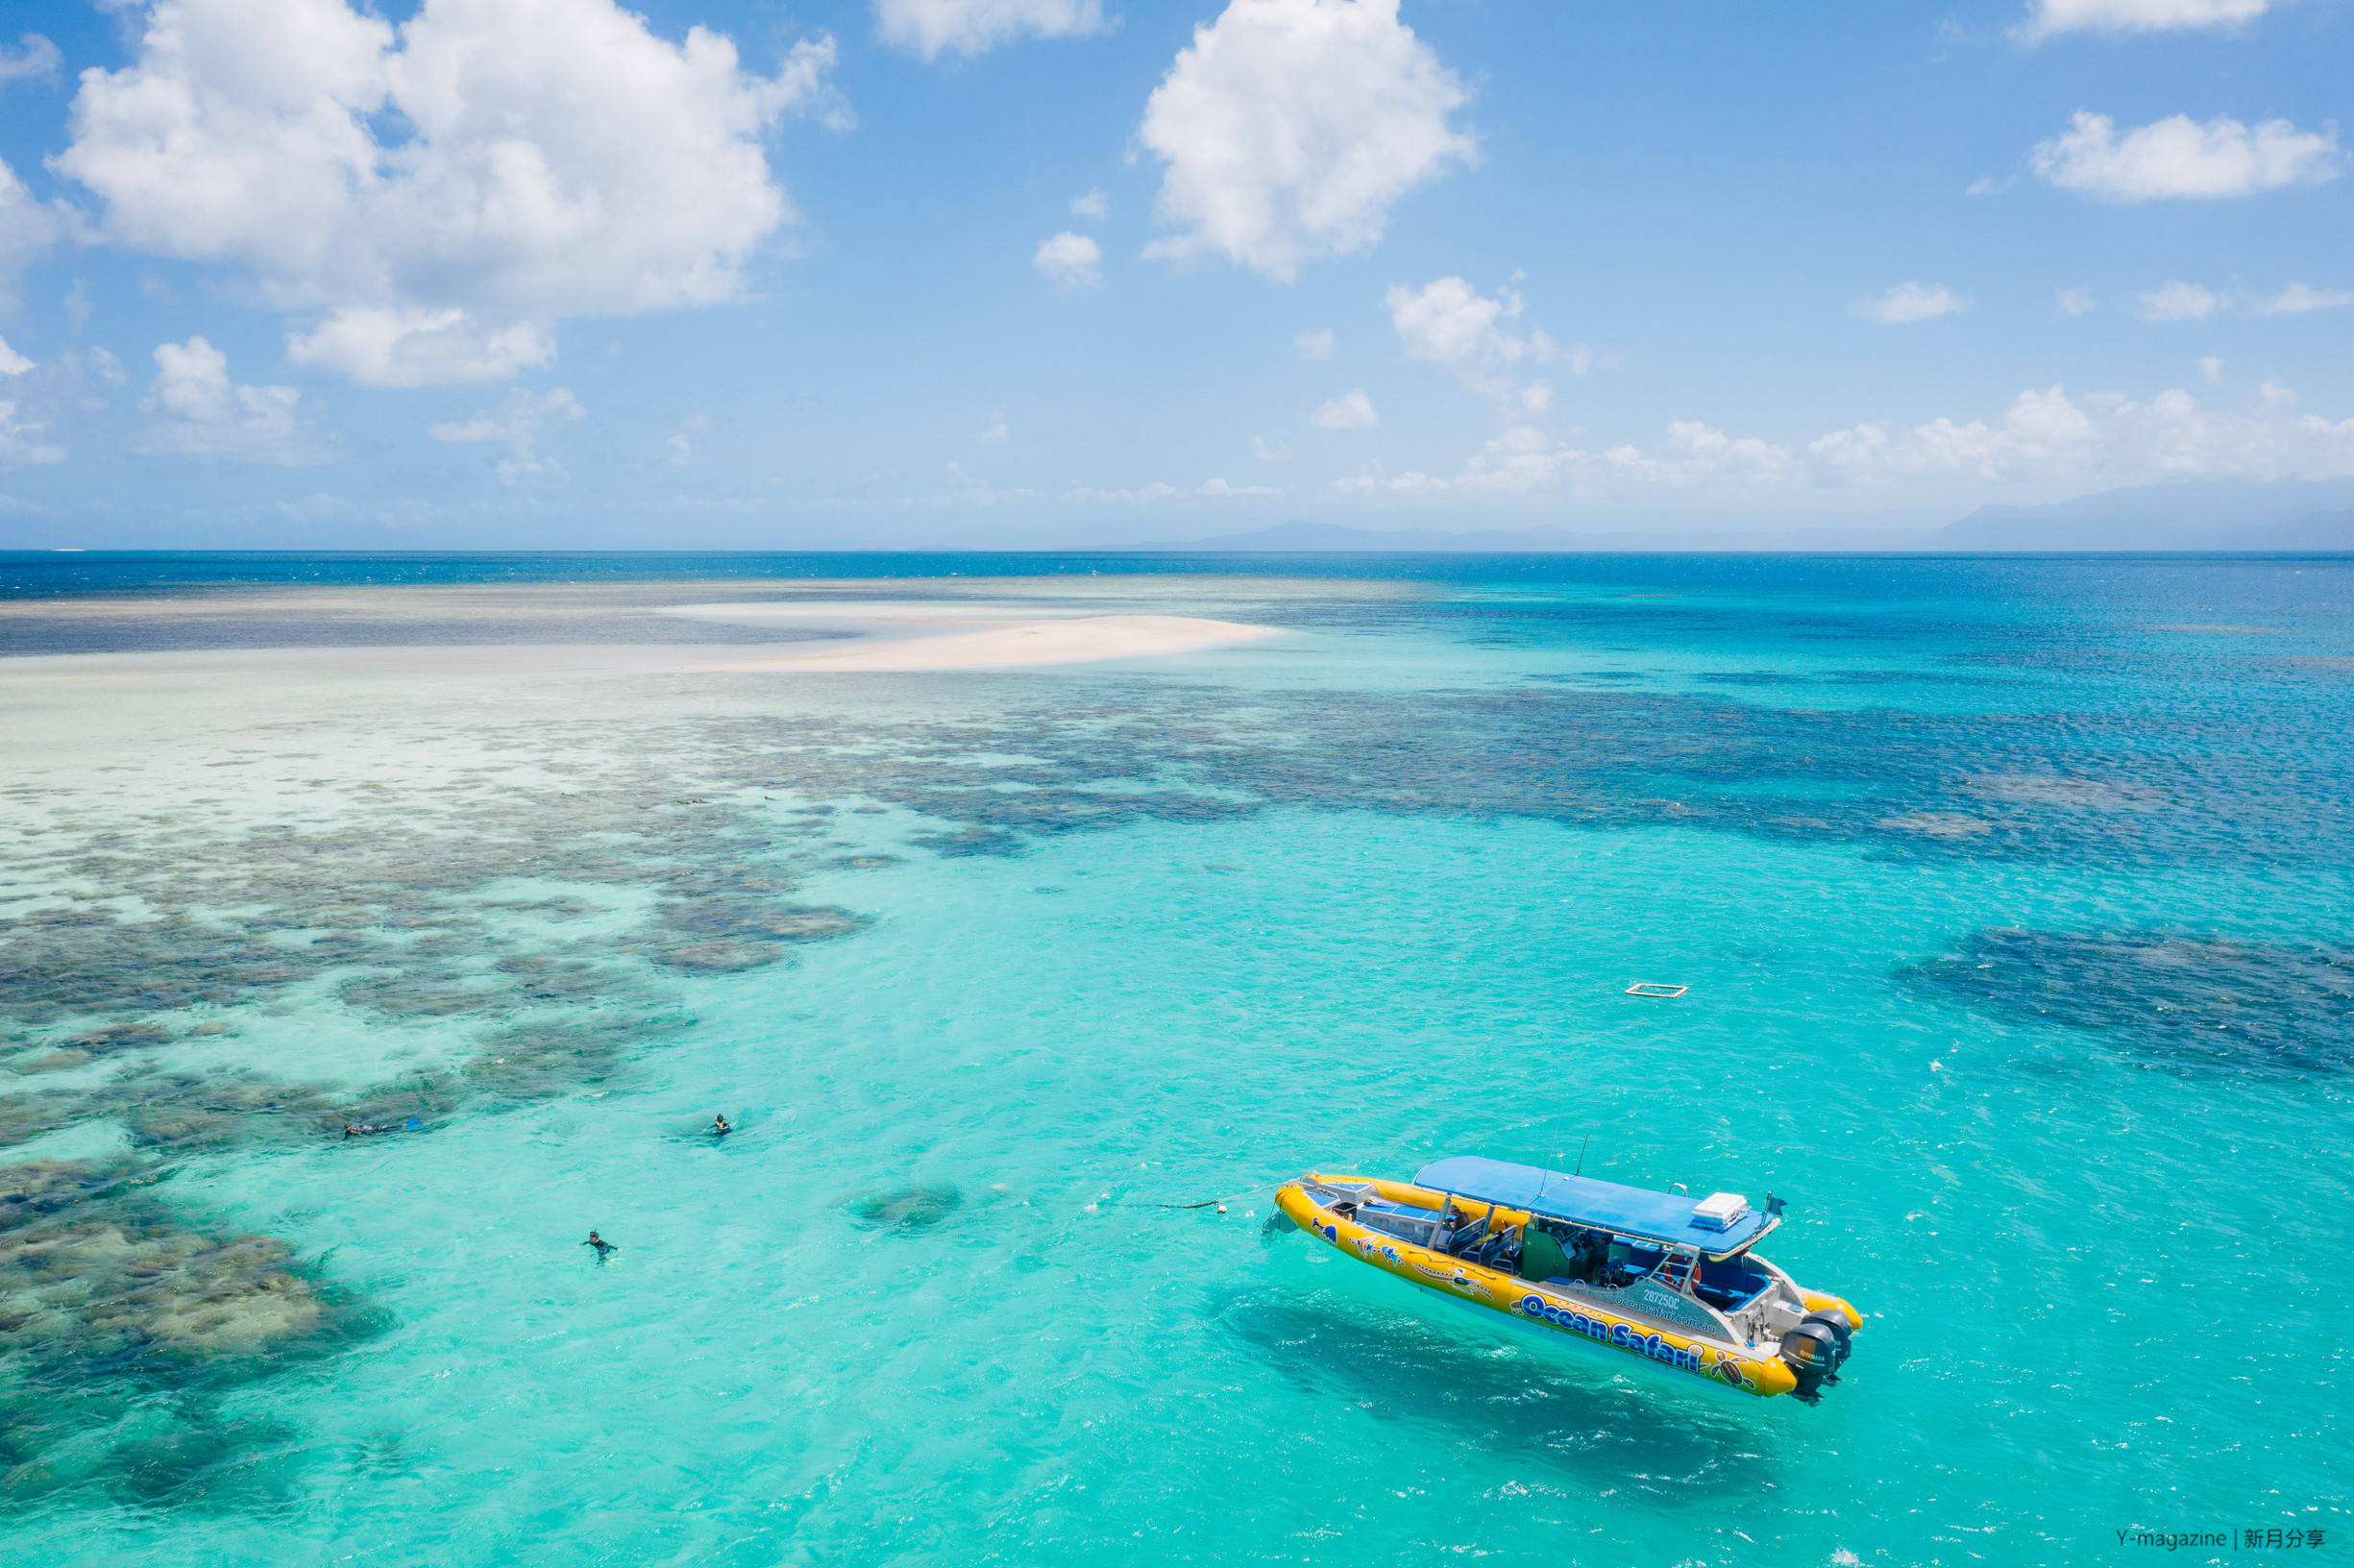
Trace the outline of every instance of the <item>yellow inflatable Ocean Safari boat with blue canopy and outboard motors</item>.
<path fill-rule="evenodd" d="M 1276 1205 L 1342 1257 L 1551 1337 L 1817 1403 L 1855 1307 L 1751 1248 L 1777 1224 L 1740 1194 L 1693 1201 L 1462 1154 L 1412 1182 L 1304 1175 Z"/>

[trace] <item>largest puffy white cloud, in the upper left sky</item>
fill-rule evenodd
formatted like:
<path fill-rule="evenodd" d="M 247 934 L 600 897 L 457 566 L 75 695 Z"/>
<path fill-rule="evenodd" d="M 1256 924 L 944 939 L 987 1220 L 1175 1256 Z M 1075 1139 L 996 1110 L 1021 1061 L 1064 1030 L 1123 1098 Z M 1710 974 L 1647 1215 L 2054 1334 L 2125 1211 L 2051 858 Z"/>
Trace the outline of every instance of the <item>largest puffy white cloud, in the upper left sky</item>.
<path fill-rule="evenodd" d="M 843 118 L 831 66 L 822 38 L 751 75 L 727 38 L 673 45 L 614 0 L 426 0 L 398 28 L 344 0 L 158 0 L 127 68 L 82 73 L 56 167 L 111 240 L 327 311 L 294 339 L 308 363 L 480 381 L 544 363 L 565 315 L 742 297 L 793 219 L 760 139 Z"/>

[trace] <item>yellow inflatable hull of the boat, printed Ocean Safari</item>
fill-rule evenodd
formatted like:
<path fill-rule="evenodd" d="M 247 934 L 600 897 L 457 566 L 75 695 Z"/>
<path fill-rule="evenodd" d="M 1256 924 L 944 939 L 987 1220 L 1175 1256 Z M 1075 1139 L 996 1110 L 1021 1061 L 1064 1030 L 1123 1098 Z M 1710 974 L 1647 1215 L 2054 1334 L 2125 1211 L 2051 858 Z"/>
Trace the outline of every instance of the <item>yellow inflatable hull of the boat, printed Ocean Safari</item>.
<path fill-rule="evenodd" d="M 1403 1182 L 1382 1182 L 1372 1177 L 1306 1180 L 1370 1184 L 1384 1198 L 1415 1203 L 1419 1208 L 1436 1208 L 1431 1201 L 1436 1194 L 1424 1194 L 1419 1187 L 1405 1187 Z M 1464 1307 L 1492 1311 L 1521 1328 L 1565 1340 L 1582 1340 L 1587 1344 L 1653 1361 L 1671 1373 L 1700 1377 L 1702 1382 L 1754 1394 L 1758 1398 L 1789 1394 L 1798 1387 L 1798 1375 L 1780 1356 L 1758 1356 L 1737 1344 L 1615 1314 L 1565 1290 L 1537 1285 L 1514 1274 L 1467 1264 L 1459 1257 L 1419 1248 L 1410 1241 L 1389 1236 L 1387 1231 L 1335 1215 L 1316 1203 L 1316 1198 L 1311 1198 L 1297 1182 L 1276 1194 L 1276 1205 L 1292 1220 L 1292 1224 L 1309 1231 L 1342 1257 L 1372 1264 L 1384 1274 L 1394 1274 L 1410 1285 L 1462 1302 Z M 1474 1215 L 1483 1212 L 1476 1203 L 1464 1203 L 1459 1208 L 1467 1208 Z M 1497 1220 L 1507 1224 L 1514 1222 L 1507 1220 L 1507 1215 L 1511 1215 L 1511 1210 L 1497 1210 Z M 1817 1293 L 1808 1295 L 1813 1297 Z M 1822 1302 L 1836 1304 L 1853 1316 L 1853 1307 L 1838 1302 L 1838 1297 L 1822 1297 Z"/>

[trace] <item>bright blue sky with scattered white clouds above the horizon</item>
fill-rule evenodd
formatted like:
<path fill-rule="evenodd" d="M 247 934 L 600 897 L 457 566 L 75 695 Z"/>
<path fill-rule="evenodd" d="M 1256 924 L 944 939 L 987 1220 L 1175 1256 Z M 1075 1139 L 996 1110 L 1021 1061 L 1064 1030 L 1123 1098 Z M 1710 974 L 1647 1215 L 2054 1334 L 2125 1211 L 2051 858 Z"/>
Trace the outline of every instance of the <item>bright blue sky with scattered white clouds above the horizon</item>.
<path fill-rule="evenodd" d="M 2354 476 L 2345 0 L 19 0 L 0 546 Z"/>

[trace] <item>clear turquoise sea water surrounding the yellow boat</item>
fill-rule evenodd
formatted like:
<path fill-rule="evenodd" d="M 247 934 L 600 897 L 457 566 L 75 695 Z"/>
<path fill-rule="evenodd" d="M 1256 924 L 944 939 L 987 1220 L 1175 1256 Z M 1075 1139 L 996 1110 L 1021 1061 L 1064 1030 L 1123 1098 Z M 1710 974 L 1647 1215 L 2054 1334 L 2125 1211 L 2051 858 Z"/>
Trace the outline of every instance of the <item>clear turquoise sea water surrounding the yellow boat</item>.
<path fill-rule="evenodd" d="M 2354 1549 L 2354 563 L 967 558 L 845 596 L 1285 636 L 593 690 L 137 565 L 0 662 L 9 1563 Z M 1787 1196 L 1841 1387 L 1250 1191 L 1580 1149 Z"/>

